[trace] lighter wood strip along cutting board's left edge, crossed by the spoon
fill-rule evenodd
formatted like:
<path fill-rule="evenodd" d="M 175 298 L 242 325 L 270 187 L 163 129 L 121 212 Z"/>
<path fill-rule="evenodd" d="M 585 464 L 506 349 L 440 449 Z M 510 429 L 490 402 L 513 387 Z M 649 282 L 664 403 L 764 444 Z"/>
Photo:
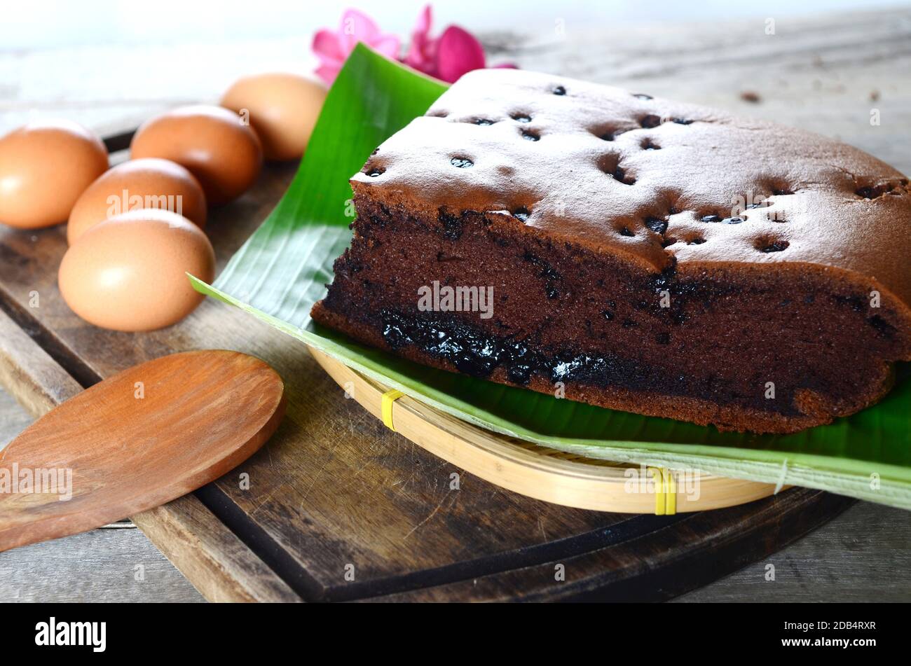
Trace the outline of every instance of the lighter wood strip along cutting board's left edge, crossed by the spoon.
<path fill-rule="evenodd" d="M 82 390 L 76 379 L 2 310 L 0 385 L 36 418 Z M 207 600 L 301 600 L 192 495 L 131 519 Z"/>

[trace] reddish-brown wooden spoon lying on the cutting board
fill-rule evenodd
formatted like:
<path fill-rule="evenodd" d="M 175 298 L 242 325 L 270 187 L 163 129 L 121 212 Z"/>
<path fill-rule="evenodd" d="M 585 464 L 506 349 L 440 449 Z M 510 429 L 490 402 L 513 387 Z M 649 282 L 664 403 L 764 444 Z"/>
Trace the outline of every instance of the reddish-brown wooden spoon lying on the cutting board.
<path fill-rule="evenodd" d="M 236 351 L 172 354 L 105 379 L 0 450 L 0 550 L 91 530 L 218 479 L 269 439 L 284 405 L 278 374 Z"/>

